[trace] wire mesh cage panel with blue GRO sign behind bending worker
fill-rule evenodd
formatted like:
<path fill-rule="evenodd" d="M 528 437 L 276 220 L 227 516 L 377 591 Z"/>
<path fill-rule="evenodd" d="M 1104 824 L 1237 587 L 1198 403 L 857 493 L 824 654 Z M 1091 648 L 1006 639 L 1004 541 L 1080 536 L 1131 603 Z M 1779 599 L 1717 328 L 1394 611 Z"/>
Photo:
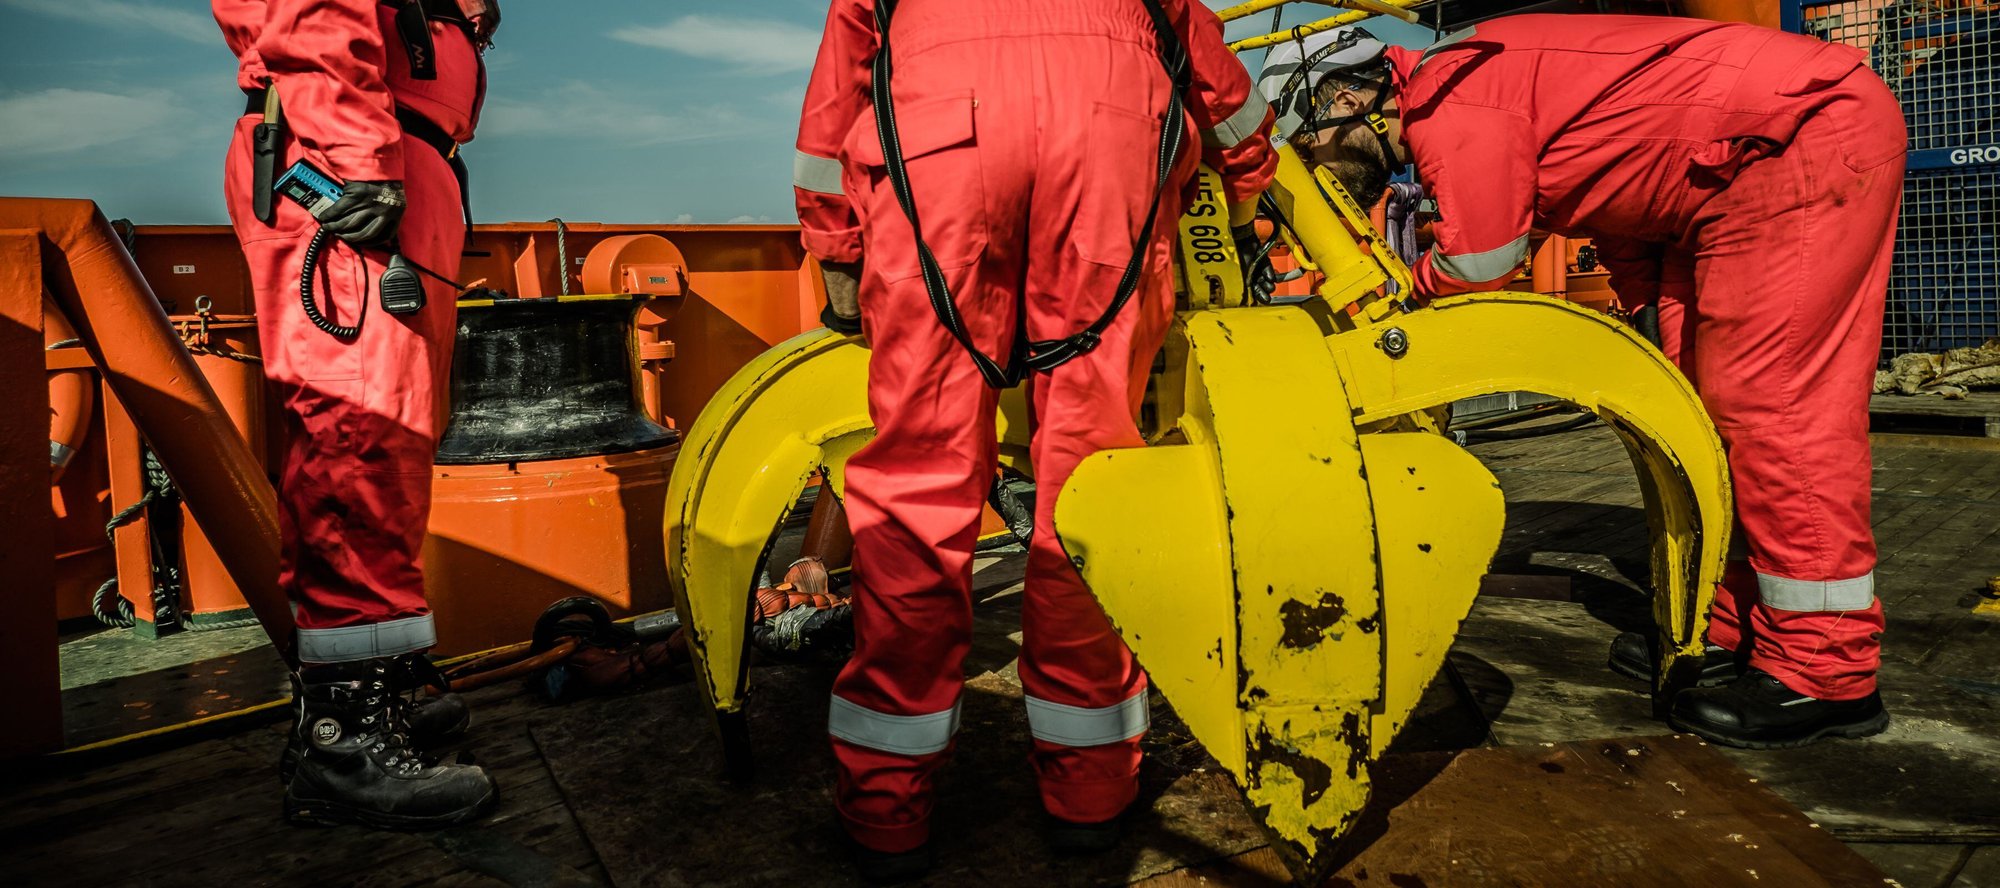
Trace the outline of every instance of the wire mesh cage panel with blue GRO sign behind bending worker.
<path fill-rule="evenodd" d="M 2000 0 L 1784 12 L 1790 30 L 1866 50 L 1910 126 L 1882 360 L 2000 336 Z"/>

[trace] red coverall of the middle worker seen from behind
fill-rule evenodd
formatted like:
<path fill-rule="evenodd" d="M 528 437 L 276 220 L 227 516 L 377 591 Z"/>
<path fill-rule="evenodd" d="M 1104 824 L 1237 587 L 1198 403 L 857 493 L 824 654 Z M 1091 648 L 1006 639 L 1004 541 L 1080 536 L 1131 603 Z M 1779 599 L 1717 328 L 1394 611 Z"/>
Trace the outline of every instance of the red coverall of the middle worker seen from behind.
<path fill-rule="evenodd" d="M 1270 112 L 1208 8 L 1162 6 L 1192 56 L 1190 142 L 1200 134 L 1200 160 L 1222 172 L 1232 200 L 1250 198 L 1276 168 L 1264 138 Z M 874 52 L 872 2 L 836 0 L 800 118 L 794 184 L 806 248 L 862 262 L 862 324 L 874 348 L 868 406 L 878 434 L 846 470 L 856 650 L 828 718 L 838 808 L 856 840 L 902 852 L 928 836 L 930 778 L 958 728 L 998 392 L 932 314 L 918 276 L 868 104 Z M 924 240 L 974 342 L 1004 362 L 1016 322 L 1042 340 L 1096 320 L 1152 200 L 1170 90 L 1144 4 L 904 0 L 894 60 Z M 1020 680 L 1042 802 L 1072 822 L 1102 822 L 1132 802 L 1146 678 L 1050 518 L 1084 456 L 1144 444 L 1134 418 L 1174 314 L 1168 234 L 1194 164 L 1194 152 L 1182 152 L 1146 274 L 1102 344 L 1028 382 L 1042 496 Z"/>

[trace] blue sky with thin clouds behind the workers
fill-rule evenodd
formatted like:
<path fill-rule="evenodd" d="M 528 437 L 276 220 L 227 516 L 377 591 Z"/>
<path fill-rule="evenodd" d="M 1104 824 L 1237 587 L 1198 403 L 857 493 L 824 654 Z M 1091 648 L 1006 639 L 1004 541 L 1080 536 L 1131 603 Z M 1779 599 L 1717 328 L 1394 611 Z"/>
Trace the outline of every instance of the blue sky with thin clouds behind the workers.
<path fill-rule="evenodd" d="M 794 220 L 792 136 L 826 0 L 502 8 L 486 112 L 466 146 L 480 222 Z M 1308 14 L 1324 12 L 1286 22 Z M 1400 22 L 1370 28 L 1428 38 Z M 94 198 L 136 222 L 226 222 L 234 84 L 204 2 L 0 0 L 0 194 Z"/>

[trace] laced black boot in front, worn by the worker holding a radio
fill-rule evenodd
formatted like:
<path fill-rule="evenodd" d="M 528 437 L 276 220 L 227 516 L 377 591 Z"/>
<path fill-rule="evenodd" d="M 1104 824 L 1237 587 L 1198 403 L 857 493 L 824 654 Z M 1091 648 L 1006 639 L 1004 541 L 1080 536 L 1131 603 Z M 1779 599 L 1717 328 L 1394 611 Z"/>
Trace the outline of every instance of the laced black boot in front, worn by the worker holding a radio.
<path fill-rule="evenodd" d="M 300 672 L 298 770 L 284 788 L 284 816 L 304 824 L 424 830 L 462 824 L 498 800 L 474 764 L 436 764 L 410 744 L 396 658 Z"/>

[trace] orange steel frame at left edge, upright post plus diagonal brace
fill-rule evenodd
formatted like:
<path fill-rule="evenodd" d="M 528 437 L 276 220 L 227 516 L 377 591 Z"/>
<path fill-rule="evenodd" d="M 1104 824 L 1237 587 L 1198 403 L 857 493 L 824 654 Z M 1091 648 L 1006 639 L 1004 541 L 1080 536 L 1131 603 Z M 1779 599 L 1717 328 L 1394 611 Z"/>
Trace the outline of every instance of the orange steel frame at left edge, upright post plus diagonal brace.
<path fill-rule="evenodd" d="M 62 742 L 56 654 L 54 510 L 40 488 L 48 448 L 44 292 L 170 466 L 188 508 L 228 540 L 224 564 L 250 596 L 278 652 L 290 660 L 292 612 L 278 592 L 278 512 L 270 482 L 228 424 L 158 300 L 88 200 L 0 198 L 0 384 L 12 392 L 0 422 L 0 496 L 8 504 L 0 564 L 18 600 L 0 620 L 0 668 L 12 724 L 0 756 Z M 30 370 L 32 368 L 32 370 Z M 106 408 L 112 408 L 106 398 Z"/>

